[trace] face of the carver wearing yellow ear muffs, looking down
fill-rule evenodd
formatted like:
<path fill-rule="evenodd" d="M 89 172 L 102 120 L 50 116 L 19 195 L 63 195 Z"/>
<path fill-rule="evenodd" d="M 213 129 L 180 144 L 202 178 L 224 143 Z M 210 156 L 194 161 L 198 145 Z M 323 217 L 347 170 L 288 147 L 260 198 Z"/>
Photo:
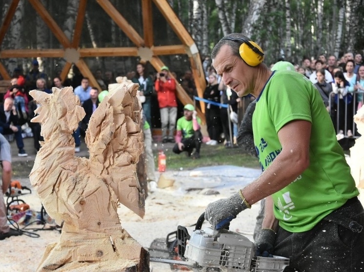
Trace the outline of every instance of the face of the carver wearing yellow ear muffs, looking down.
<path fill-rule="evenodd" d="M 253 69 L 243 59 L 233 55 L 229 45 L 223 45 L 216 58 L 212 60 L 216 72 L 222 76 L 223 83 L 235 91 L 239 97 L 254 90 L 252 86 Z"/>

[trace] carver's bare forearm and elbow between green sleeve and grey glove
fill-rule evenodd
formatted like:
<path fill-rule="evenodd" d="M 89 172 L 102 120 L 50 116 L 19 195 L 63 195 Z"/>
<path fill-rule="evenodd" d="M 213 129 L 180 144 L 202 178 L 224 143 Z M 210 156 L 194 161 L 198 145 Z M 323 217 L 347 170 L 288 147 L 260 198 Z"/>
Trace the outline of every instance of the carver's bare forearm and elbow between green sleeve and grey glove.
<path fill-rule="evenodd" d="M 282 151 L 262 175 L 244 187 L 245 200 L 254 204 L 294 181 L 309 165 L 311 123 L 294 120 L 278 131 Z"/>

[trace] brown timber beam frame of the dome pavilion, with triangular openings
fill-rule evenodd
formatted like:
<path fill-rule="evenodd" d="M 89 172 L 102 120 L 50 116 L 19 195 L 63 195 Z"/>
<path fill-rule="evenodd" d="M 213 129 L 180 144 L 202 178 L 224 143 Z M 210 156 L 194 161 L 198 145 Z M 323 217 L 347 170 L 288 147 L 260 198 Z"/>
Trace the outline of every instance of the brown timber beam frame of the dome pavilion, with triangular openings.
<path fill-rule="evenodd" d="M 9 10 L 0 28 L 0 45 L 3 42 L 4 36 L 9 28 L 10 22 L 15 14 L 16 8 L 20 0 L 13 0 L 9 6 Z M 104 56 L 139 56 L 142 62 L 149 61 L 152 66 L 160 71 L 161 67 L 165 64 L 162 62 L 159 55 L 169 54 L 187 54 L 189 57 L 191 71 L 196 84 L 196 89 L 199 97 L 202 97 L 203 91 L 206 87 L 205 75 L 202 68 L 197 46 L 183 26 L 180 19 L 176 16 L 173 9 L 167 0 L 141 0 L 142 1 L 142 22 L 143 22 L 143 36 L 127 22 L 127 20 L 119 13 L 109 0 L 97 1 L 101 8 L 114 20 L 116 25 L 125 33 L 127 37 L 135 44 L 135 47 L 114 47 L 114 48 L 79 48 L 81 39 L 81 30 L 85 17 L 85 10 L 87 0 L 80 0 L 78 15 L 76 19 L 73 39 L 69 40 L 63 33 L 59 25 L 55 22 L 52 16 L 45 9 L 40 0 L 28 0 L 40 17 L 44 20 L 49 29 L 53 32 L 55 37 L 60 42 L 63 48 L 60 49 L 9 49 L 0 51 L 0 59 L 3 58 L 20 58 L 20 57 L 61 57 L 66 60 L 61 72 L 61 79 L 67 77 L 72 64 L 74 63 L 81 71 L 81 73 L 88 77 L 90 84 L 99 86 L 94 75 L 91 73 L 84 57 L 104 57 Z M 160 10 L 168 24 L 181 40 L 182 44 L 179 45 L 165 45 L 154 46 L 153 40 L 153 23 L 152 23 L 152 1 Z M 0 62 L 0 74 L 4 79 L 10 79 L 9 73 Z M 100 87 L 100 86 L 99 86 Z M 193 104 L 192 99 L 183 90 L 180 84 L 177 84 L 177 96 L 183 105 L 187 103 Z M 204 118 L 204 103 L 200 102 L 202 111 L 198 110 L 198 114 L 205 123 Z"/>

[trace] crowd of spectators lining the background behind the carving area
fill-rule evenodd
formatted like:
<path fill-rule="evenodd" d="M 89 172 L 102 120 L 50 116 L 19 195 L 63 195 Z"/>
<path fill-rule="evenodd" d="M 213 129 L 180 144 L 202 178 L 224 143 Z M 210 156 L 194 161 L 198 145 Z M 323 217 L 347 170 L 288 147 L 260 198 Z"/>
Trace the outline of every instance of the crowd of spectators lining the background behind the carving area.
<path fill-rule="evenodd" d="M 202 64 L 206 80 L 203 101 L 208 137 L 205 142 L 207 145 L 223 143 L 226 147 L 237 145 L 238 122 L 232 119 L 230 113 L 235 115 L 239 113 L 238 116 L 243 117 L 244 109 L 254 100 L 254 97 L 239 98 L 234 91 L 224 86 L 220 76 L 213 69 L 209 57 L 204 58 Z M 180 85 L 194 101 L 197 91 L 193 74 L 191 70 L 186 70 L 177 75 L 167 66 L 162 67 L 161 71 L 151 72 L 148 71 L 148 67 L 150 66 L 145 63 L 138 63 L 135 71 L 125 75 L 140 85 L 140 95 L 143 97 L 142 108 L 151 129 L 161 127 L 160 141 L 175 143 L 176 122 L 183 117 L 184 112 L 184 105 L 177 99 L 177 85 Z M 343 137 L 355 135 L 357 131 L 353 127 L 352 116 L 363 105 L 362 55 L 348 52 L 339 59 L 335 55 L 326 57 L 324 54 L 317 58 L 303 57 L 302 63 L 295 64 L 294 67 L 298 73 L 304 74 L 320 92 L 338 135 Z M 26 74 L 22 74 L 19 68 L 14 69 L 11 85 L 4 94 L 3 103 L 0 106 L 0 115 L 3 112 L 0 132 L 13 135 L 18 144 L 19 156 L 27 155 L 21 139 L 27 135 L 23 133 L 24 125 L 25 128 L 31 129 L 36 150 L 39 150 L 39 141 L 42 140 L 40 125 L 30 122 L 34 117 L 35 109 L 39 107 L 37 101 L 33 101 L 28 95 L 30 90 L 51 93 L 52 87 L 61 89 L 63 86 L 72 86 L 74 88 L 75 94 L 79 96 L 81 105 L 84 104 L 87 112 L 85 119 L 74 133 L 75 151 L 78 152 L 81 135 L 84 135 L 88 120 L 99 104 L 96 98 L 98 93 L 107 90 L 109 84 L 116 82 L 114 73 L 109 70 L 103 74 L 101 69 L 95 71 L 95 79 L 101 87 L 100 90 L 92 88 L 89 85 L 89 79 L 84 77 L 76 66 L 73 67 L 72 78 L 62 81 L 60 74 L 61 71 L 51 80 L 47 73 L 40 71 L 37 60 L 32 61 L 32 68 Z M 5 106 L 9 109 L 5 110 Z M 195 102 L 194 107 L 199 108 L 199 103 Z"/>

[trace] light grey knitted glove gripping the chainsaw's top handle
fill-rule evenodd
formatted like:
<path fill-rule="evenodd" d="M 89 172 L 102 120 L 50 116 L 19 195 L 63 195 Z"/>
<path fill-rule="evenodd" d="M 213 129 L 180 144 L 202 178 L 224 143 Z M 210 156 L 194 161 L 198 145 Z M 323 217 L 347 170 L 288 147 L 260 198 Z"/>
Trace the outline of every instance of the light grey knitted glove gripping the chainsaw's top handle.
<path fill-rule="evenodd" d="M 219 199 L 208 204 L 205 219 L 210 222 L 214 229 L 220 230 L 246 208 L 250 209 L 250 205 L 239 191 L 230 198 Z"/>

